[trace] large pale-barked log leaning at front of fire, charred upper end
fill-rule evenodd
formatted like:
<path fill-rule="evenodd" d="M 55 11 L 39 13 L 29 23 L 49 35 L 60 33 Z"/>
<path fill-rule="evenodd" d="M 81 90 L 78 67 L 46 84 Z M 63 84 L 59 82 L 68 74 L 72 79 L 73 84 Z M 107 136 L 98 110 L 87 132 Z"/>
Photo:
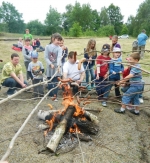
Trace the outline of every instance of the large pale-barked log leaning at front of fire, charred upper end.
<path fill-rule="evenodd" d="M 50 139 L 49 143 L 47 144 L 47 148 L 50 149 L 50 151 L 55 152 L 58 144 L 63 137 L 64 133 L 70 128 L 71 125 L 71 119 L 75 112 L 74 106 L 68 106 L 65 115 L 63 116 L 63 119 L 59 123 L 59 125 L 56 127 L 55 132 Z"/>

